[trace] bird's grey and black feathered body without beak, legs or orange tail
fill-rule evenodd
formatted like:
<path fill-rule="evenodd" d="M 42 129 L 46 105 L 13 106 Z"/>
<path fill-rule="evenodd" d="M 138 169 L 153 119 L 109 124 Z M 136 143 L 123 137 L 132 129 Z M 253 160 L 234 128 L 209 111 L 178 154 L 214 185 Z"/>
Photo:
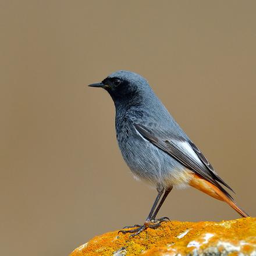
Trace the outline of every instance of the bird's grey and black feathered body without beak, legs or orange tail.
<path fill-rule="evenodd" d="M 106 88 L 116 107 L 116 137 L 134 175 L 157 186 L 168 187 L 185 184 L 184 172 L 190 169 L 221 189 L 218 182 L 227 186 L 177 125 L 144 77 L 120 70 L 103 83 L 113 79 L 123 83 L 121 92 L 118 87 Z"/>

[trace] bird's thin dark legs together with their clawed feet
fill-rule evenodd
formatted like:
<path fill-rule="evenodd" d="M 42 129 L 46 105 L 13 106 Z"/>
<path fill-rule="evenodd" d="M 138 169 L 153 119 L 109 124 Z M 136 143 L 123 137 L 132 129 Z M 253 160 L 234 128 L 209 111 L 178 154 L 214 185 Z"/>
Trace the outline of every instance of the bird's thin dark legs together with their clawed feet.
<path fill-rule="evenodd" d="M 151 208 L 150 214 L 148 215 L 148 218 L 145 221 L 145 223 L 143 225 L 126 226 L 124 228 L 129 228 L 129 227 L 137 227 L 137 228 L 131 229 L 131 230 L 120 230 L 119 232 L 122 232 L 123 234 L 132 233 L 131 237 L 134 237 L 134 236 L 137 236 L 138 234 L 140 234 L 143 230 L 147 229 L 148 227 L 150 227 L 151 229 L 156 229 L 157 227 L 159 227 L 161 225 L 161 222 L 169 220 L 169 218 L 167 218 L 167 217 L 163 217 L 160 219 L 155 219 L 155 217 L 157 216 L 157 213 L 158 213 L 159 209 L 161 208 L 163 202 L 165 201 L 166 197 L 172 190 L 172 187 L 170 187 L 169 189 L 166 189 L 165 194 L 163 194 L 164 190 L 162 189 L 162 187 L 157 187 L 157 190 L 158 190 L 157 198 L 155 198 L 155 202 Z M 161 198 L 162 194 L 163 194 L 163 197 L 157 207 L 158 201 Z M 157 207 L 157 209 L 155 209 L 155 207 Z"/>

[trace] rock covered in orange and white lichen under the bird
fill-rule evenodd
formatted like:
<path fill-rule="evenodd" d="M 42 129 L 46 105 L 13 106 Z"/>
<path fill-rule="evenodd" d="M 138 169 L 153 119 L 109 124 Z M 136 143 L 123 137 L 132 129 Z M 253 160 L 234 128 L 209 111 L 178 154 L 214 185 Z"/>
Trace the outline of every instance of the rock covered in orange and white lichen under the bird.
<path fill-rule="evenodd" d="M 140 254 L 256 256 L 256 218 L 197 223 L 170 221 L 133 238 L 118 231 L 109 232 L 76 248 L 70 256 Z"/>

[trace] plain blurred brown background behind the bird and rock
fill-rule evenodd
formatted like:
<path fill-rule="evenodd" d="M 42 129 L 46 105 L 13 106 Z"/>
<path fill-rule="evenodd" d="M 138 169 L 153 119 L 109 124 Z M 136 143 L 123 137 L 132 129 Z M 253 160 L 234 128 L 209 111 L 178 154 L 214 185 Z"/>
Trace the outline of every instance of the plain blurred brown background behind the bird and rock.
<path fill-rule="evenodd" d="M 68 255 L 91 237 L 143 223 L 157 192 L 119 152 L 115 109 L 88 88 L 127 69 L 255 216 L 255 1 L 0 1 L 2 255 Z M 195 189 L 159 216 L 239 218 Z"/>

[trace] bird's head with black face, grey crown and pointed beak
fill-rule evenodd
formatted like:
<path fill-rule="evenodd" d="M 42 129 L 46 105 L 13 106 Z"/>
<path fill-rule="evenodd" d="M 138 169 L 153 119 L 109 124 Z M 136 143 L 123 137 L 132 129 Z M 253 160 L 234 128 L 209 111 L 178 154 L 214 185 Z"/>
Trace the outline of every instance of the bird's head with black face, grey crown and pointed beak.
<path fill-rule="evenodd" d="M 100 83 L 90 84 L 90 87 L 104 88 L 111 95 L 113 101 L 134 101 L 143 97 L 150 91 L 147 80 L 140 74 L 136 74 L 127 70 L 119 70 L 110 74 Z"/>

